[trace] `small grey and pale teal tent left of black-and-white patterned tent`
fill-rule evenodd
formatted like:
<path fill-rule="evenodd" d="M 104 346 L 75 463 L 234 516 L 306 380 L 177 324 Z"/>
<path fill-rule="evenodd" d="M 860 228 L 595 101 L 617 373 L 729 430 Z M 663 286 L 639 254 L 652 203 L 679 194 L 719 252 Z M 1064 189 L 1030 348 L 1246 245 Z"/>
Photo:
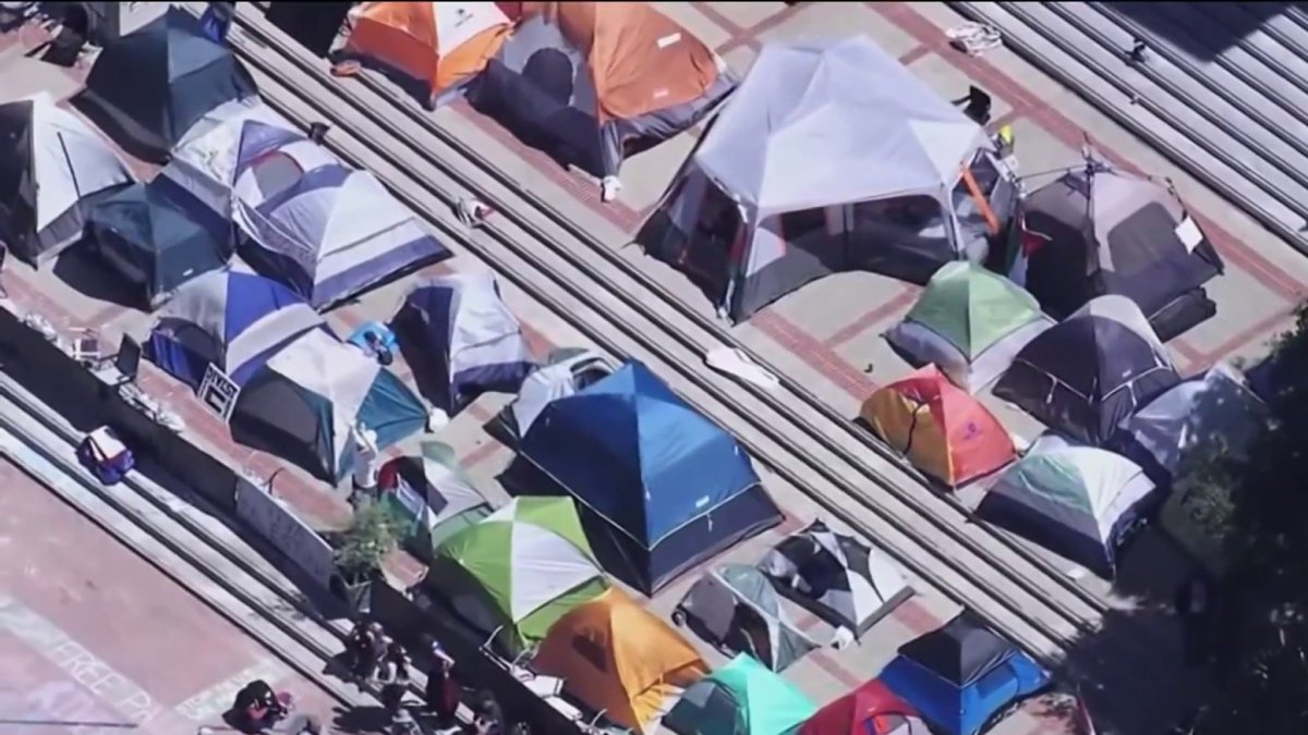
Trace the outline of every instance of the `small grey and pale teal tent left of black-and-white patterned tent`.
<path fill-rule="evenodd" d="M 672 620 L 732 654 L 752 655 L 773 671 L 819 647 L 790 621 L 772 581 L 746 564 L 705 572 L 681 598 Z"/>

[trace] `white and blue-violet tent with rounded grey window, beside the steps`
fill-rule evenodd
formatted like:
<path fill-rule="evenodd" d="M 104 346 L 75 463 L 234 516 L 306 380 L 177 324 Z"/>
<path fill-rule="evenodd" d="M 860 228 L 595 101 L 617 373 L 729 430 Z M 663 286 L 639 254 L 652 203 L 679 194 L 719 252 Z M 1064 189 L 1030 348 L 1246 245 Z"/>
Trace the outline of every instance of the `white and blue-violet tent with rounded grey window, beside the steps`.
<path fill-rule="evenodd" d="M 242 258 L 315 309 L 449 256 L 373 174 L 277 127 L 245 123 L 233 196 Z"/>

